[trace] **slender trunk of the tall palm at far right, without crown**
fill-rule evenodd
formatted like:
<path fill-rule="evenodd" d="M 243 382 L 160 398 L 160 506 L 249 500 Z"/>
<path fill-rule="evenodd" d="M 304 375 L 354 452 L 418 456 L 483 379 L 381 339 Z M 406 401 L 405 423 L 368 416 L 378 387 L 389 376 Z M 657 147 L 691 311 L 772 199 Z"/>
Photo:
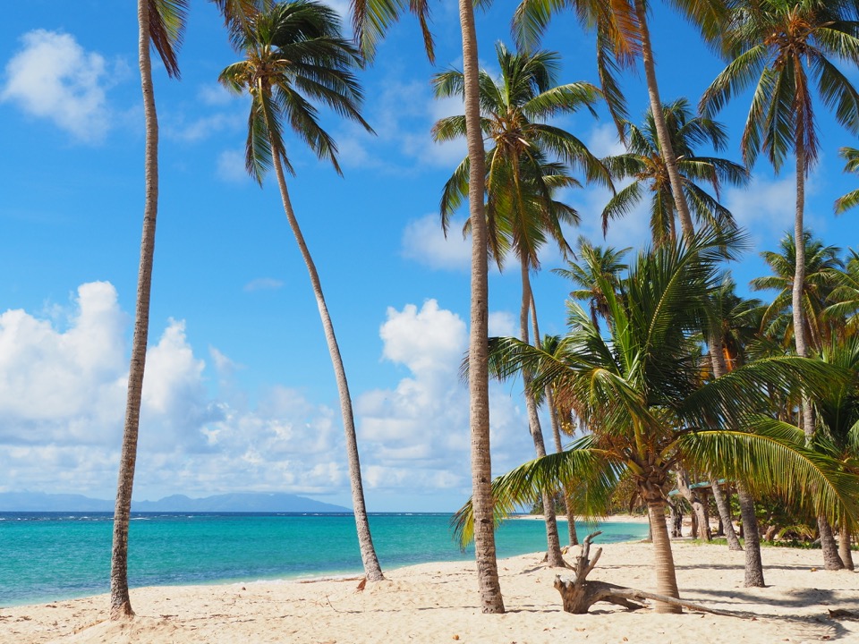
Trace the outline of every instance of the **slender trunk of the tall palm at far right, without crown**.
<path fill-rule="evenodd" d="M 805 123 L 802 116 L 796 120 L 796 216 L 794 220 L 795 267 L 794 284 L 791 291 L 791 307 L 794 315 L 794 340 L 796 355 L 808 357 L 808 343 L 805 337 L 805 314 L 803 310 L 803 292 L 805 288 L 805 148 L 803 141 Z M 814 435 L 814 415 L 811 402 L 803 395 L 803 428 L 807 440 Z M 841 570 L 844 562 L 838 555 L 838 545 L 832 535 L 832 527 L 825 516 L 817 517 L 817 527 L 821 533 L 821 548 L 823 550 L 823 567 L 826 570 Z"/>

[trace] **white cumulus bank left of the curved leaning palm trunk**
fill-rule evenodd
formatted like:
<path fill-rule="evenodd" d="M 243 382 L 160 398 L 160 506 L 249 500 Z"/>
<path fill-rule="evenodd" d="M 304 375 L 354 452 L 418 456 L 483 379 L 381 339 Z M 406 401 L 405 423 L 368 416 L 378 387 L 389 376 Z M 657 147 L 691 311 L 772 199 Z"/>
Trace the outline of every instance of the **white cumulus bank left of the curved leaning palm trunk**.
<path fill-rule="evenodd" d="M 115 288 L 82 284 L 50 319 L 0 314 L 0 489 L 112 494 L 123 431 L 130 318 Z M 235 369 L 217 349 L 218 374 Z M 206 363 L 185 323 L 169 320 L 147 355 L 140 410 L 139 497 L 343 485 L 331 409 L 273 386 L 249 407 L 208 393 Z M 236 402 L 238 401 L 238 402 Z"/>

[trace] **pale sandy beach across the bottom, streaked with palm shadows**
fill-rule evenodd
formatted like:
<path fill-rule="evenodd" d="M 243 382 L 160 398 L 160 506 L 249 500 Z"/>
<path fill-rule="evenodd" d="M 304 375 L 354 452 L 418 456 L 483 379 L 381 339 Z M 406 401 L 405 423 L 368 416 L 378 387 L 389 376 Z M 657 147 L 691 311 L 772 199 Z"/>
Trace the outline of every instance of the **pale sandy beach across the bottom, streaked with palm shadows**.
<path fill-rule="evenodd" d="M 557 571 L 541 555 L 522 555 L 499 562 L 503 615 L 480 613 L 474 563 L 426 563 L 387 572 L 362 591 L 356 579 L 136 589 L 138 616 L 129 623 L 104 621 L 106 596 L 0 608 L 0 642 L 859 642 L 859 619 L 834 619 L 828 610 L 859 613 L 859 576 L 817 570 L 819 550 L 765 548 L 769 586 L 744 589 L 744 553 L 674 546 L 681 596 L 739 616 L 631 613 L 609 604 L 566 614 L 552 588 Z M 591 579 L 653 589 L 650 544 L 604 548 Z"/>

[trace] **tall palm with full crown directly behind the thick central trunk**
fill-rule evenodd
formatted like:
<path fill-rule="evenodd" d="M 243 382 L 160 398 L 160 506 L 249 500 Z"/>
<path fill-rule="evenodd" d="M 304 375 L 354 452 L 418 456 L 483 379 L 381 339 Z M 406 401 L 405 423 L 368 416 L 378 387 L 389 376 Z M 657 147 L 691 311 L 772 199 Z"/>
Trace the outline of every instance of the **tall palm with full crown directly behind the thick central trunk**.
<path fill-rule="evenodd" d="M 557 85 L 559 56 L 555 52 L 527 54 L 510 52 L 496 46 L 501 74 L 495 79 L 481 71 L 482 130 L 489 140 L 486 152 L 486 218 L 489 254 L 498 267 L 504 266 L 509 253 L 519 260 L 522 277 L 520 334 L 529 342 L 529 318 L 533 306 L 530 273 L 540 268 L 540 249 L 556 242 L 563 254 L 569 250 L 561 225 L 578 222 L 573 208 L 553 199 L 560 187 L 577 185 L 566 174 L 566 165 L 580 165 L 594 180 L 609 182 L 608 172 L 581 140 L 568 131 L 546 123 L 556 114 L 570 114 L 593 105 L 599 90 L 588 83 Z M 462 96 L 464 74 L 449 70 L 433 78 L 438 97 Z M 450 116 L 433 126 L 436 140 L 452 140 L 466 133 L 464 116 Z M 560 163 L 548 161 L 551 155 Z M 466 157 L 447 182 L 442 200 L 442 225 L 447 232 L 449 217 L 462 203 L 469 188 L 469 159 Z M 466 225 L 466 231 L 468 225 Z M 532 320 L 536 325 L 536 318 Z M 534 341 L 539 342 L 535 330 Z M 534 449 L 546 455 L 537 404 L 531 391 L 531 375 L 523 372 L 525 407 L 528 411 Z M 546 516 L 549 564 L 563 566 L 557 536 L 555 508 L 549 495 L 543 495 Z"/>

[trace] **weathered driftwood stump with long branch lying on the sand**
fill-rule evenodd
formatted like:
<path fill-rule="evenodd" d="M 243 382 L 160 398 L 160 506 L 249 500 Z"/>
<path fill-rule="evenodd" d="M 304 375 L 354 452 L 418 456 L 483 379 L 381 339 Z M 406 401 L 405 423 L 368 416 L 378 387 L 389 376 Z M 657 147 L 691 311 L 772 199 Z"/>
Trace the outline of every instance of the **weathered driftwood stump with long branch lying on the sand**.
<path fill-rule="evenodd" d="M 606 581 L 588 581 L 587 576 L 596 567 L 602 555 L 602 548 L 597 548 L 593 555 L 593 560 L 589 560 L 591 552 L 591 542 L 595 537 L 602 534 L 601 531 L 593 532 L 584 539 L 582 544 L 582 553 L 576 558 L 573 567 L 575 572 L 574 579 L 562 580 L 560 575 L 555 577 L 555 588 L 561 594 L 561 599 L 564 603 L 564 610 L 567 613 L 585 614 L 588 610 L 600 601 L 624 606 L 629 610 L 637 610 L 643 608 L 641 602 L 646 599 L 665 602 L 672 606 L 682 606 L 691 610 L 702 611 L 704 613 L 712 613 L 719 615 L 727 615 L 729 617 L 739 617 L 736 613 L 728 613 L 727 611 L 708 608 L 700 604 L 676 599 L 675 597 L 667 597 L 665 595 L 657 595 L 656 593 L 647 592 L 645 590 L 626 588 L 625 586 L 617 586 L 617 584 L 608 583 Z"/>

